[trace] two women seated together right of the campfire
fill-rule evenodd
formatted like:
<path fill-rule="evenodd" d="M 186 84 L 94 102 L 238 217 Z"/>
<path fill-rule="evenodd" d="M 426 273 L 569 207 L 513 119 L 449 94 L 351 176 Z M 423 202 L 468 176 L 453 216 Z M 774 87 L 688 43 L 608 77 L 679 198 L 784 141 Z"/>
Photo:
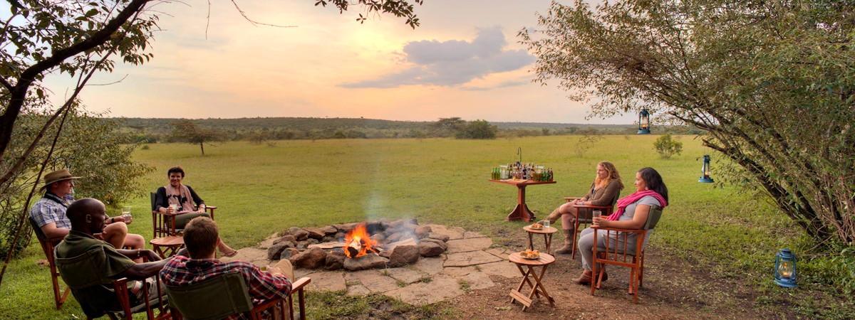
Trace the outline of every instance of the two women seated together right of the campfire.
<path fill-rule="evenodd" d="M 564 245 L 555 253 L 569 254 L 573 252 L 572 246 L 577 231 L 575 230 L 575 219 L 579 217 L 579 209 L 576 206 L 609 207 L 615 205 L 615 210 L 610 215 L 593 217 L 593 226 L 629 230 L 639 230 L 644 227 L 652 206 L 660 208 L 668 206 L 668 187 L 665 186 L 662 176 L 655 169 L 646 167 L 635 172 L 634 186 L 633 194 L 617 199 L 623 189 L 621 175 L 611 162 L 602 161 L 598 163 L 597 177 L 591 183 L 587 195 L 563 204 L 552 211 L 548 217 L 553 224 L 560 218 L 564 232 Z M 593 232 L 594 229 L 592 228 L 582 230 L 579 241 L 576 242 L 576 247 L 581 253 L 583 269 L 581 276 L 576 279 L 576 283 L 582 285 L 591 284 L 593 279 L 593 247 L 605 247 L 606 245 L 606 231 L 598 231 L 598 243 L 593 243 Z M 651 233 L 648 232 L 647 237 L 650 235 Z M 612 234 L 612 236 L 615 235 Z M 628 236 L 628 246 L 635 246 L 636 241 L 634 235 Z M 644 239 L 642 245 L 646 245 L 646 243 L 647 239 Z M 597 269 L 603 270 L 600 268 L 602 266 L 598 265 Z M 607 278 L 608 276 L 604 274 L 603 280 Z"/>

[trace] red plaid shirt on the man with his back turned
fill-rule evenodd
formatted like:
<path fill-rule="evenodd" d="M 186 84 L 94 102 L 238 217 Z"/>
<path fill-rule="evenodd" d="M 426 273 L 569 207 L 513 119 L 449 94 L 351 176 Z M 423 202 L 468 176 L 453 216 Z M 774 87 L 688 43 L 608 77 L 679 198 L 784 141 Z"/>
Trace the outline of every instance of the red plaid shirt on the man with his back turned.
<path fill-rule="evenodd" d="M 218 259 L 190 259 L 176 255 L 160 271 L 162 282 L 168 286 L 186 286 L 229 271 L 239 271 L 244 276 L 253 303 L 275 298 L 286 298 L 291 292 L 291 281 L 285 276 L 273 276 L 257 266 L 243 261 L 222 263 Z M 228 319 L 243 319 L 232 315 Z"/>

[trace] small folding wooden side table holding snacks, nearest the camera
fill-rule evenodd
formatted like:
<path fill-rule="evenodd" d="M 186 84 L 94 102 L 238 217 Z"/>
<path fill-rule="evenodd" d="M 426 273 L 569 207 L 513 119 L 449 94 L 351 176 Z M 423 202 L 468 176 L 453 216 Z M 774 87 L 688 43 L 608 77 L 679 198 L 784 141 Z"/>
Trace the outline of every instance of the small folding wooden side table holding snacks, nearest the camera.
<path fill-rule="evenodd" d="M 520 285 L 516 286 L 516 290 L 510 290 L 510 303 L 514 303 L 514 301 L 519 302 L 522 305 L 522 311 L 526 311 L 526 308 L 532 305 L 534 296 L 537 296 L 538 298 L 545 298 L 549 302 L 549 305 L 555 307 L 555 300 L 546 293 L 546 288 L 543 285 L 543 276 L 546 274 L 546 267 L 555 262 L 555 257 L 547 253 L 540 253 L 540 258 L 538 259 L 523 259 L 520 253 L 510 253 L 508 259 L 516 265 L 516 269 L 522 274 Z M 527 269 L 523 270 L 523 266 Z M 540 275 L 535 270 L 537 267 L 540 267 Z M 528 279 L 529 276 L 534 279 L 534 283 Z M 526 283 L 528 283 L 529 288 L 532 288 L 531 292 L 528 293 L 528 297 L 520 292 L 522 286 Z"/>

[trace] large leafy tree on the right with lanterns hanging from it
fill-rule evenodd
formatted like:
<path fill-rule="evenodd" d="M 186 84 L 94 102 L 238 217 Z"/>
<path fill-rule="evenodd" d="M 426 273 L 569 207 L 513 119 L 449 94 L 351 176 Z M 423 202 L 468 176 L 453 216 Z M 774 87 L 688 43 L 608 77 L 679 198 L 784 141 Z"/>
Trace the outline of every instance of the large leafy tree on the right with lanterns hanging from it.
<path fill-rule="evenodd" d="M 855 3 L 552 3 L 520 32 L 538 81 L 599 116 L 644 106 L 703 130 L 817 241 L 855 241 Z M 733 179 L 738 181 L 737 179 Z"/>

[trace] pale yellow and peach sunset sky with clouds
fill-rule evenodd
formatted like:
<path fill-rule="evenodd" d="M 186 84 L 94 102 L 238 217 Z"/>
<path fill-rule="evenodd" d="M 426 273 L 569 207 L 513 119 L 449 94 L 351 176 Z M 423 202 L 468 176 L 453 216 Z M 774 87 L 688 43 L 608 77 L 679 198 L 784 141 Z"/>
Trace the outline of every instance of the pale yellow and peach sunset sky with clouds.
<path fill-rule="evenodd" d="M 553 123 L 632 123 L 632 114 L 585 119 L 586 105 L 531 82 L 534 56 L 516 32 L 535 27 L 549 1 L 426 0 L 422 26 L 360 10 L 339 15 L 313 0 L 164 3 L 153 61 L 120 66 L 82 98 L 94 112 L 146 118 L 445 117 Z M 169 16 L 171 15 L 171 16 Z M 68 86 L 49 81 L 57 96 Z"/>

